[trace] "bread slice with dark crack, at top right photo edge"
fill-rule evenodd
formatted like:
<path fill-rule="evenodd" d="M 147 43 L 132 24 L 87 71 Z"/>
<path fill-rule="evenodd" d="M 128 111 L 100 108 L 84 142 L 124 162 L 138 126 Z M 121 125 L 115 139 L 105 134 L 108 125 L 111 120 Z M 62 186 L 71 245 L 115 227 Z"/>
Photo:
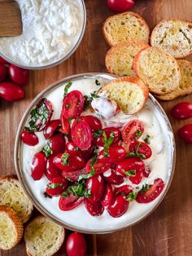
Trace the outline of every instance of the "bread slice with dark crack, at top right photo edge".
<path fill-rule="evenodd" d="M 192 22 L 162 20 L 151 33 L 151 46 L 168 51 L 176 59 L 192 53 Z"/>

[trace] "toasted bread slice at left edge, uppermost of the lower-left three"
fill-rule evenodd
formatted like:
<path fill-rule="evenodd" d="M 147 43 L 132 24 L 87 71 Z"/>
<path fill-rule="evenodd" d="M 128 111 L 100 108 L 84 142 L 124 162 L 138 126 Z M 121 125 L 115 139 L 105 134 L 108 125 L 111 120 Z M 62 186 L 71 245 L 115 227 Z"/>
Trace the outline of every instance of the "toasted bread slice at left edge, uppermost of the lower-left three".
<path fill-rule="evenodd" d="M 7 205 L 15 210 L 23 223 L 28 221 L 33 211 L 33 205 L 19 180 L 12 176 L 0 178 L 0 205 Z"/>

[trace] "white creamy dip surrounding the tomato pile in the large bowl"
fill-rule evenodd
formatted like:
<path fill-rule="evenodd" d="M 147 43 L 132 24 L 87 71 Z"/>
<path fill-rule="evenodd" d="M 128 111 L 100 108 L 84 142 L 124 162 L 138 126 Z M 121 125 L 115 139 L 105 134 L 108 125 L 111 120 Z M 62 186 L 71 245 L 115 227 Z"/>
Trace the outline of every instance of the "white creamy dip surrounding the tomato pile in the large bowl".
<path fill-rule="evenodd" d="M 108 82 L 107 79 L 99 79 L 98 77 L 97 79 L 102 85 Z M 111 79 L 114 78 L 111 77 Z M 45 95 L 45 97 L 53 104 L 54 113 L 52 119 L 59 118 L 63 102 L 63 90 L 64 84 L 58 86 L 54 90 L 51 90 L 50 93 Z M 98 90 L 98 86 L 96 86 L 94 78 L 86 77 L 85 79 L 73 81 L 72 87 L 69 91 L 71 90 L 81 90 L 84 95 L 89 95 L 90 92 Z M 144 160 L 146 165 L 151 168 L 151 174 L 147 179 L 142 179 L 142 183 L 139 185 L 139 187 L 142 187 L 142 184 L 145 183 L 154 183 L 155 179 L 161 178 L 164 180 L 164 189 L 166 189 L 172 169 L 172 133 L 168 131 L 168 126 L 164 120 L 164 117 L 159 112 L 158 108 L 155 107 L 155 104 L 151 101 L 151 99 L 148 99 L 146 106 L 142 108 L 139 113 L 133 116 L 126 116 L 122 114 L 121 117 L 123 118 L 123 122 L 128 122 L 135 118 L 143 122 L 145 130 L 140 139 L 144 139 L 146 135 L 151 135 L 150 146 L 152 149 L 152 156 L 150 159 L 147 159 L 146 161 Z M 120 119 L 120 115 L 118 118 Z M 110 121 L 110 118 L 108 118 L 107 121 Z M 105 124 L 105 121 L 103 121 L 103 124 Z M 134 223 L 137 221 L 137 219 L 146 215 L 152 208 L 155 207 L 155 205 L 157 205 L 164 194 L 164 192 L 162 192 L 162 194 L 157 197 L 155 201 L 148 204 L 139 204 L 137 201 L 131 202 L 129 204 L 129 210 L 120 218 L 112 218 L 107 213 L 107 210 L 104 210 L 101 216 L 93 217 L 85 210 L 84 204 L 79 205 L 76 209 L 70 211 L 59 210 L 59 197 L 53 197 L 50 199 L 43 195 L 46 184 L 49 182 L 46 176 L 44 175 L 39 181 L 34 181 L 31 177 L 30 170 L 33 156 L 46 144 L 46 139 L 44 138 L 42 132 L 37 132 L 36 135 L 39 139 L 39 143 L 36 146 L 30 147 L 24 143 L 21 143 L 21 148 L 23 149 L 22 165 L 24 177 L 28 183 L 28 188 L 44 209 L 52 214 L 54 218 L 59 219 L 60 222 L 67 223 L 72 228 L 86 229 L 87 232 L 104 232 L 114 230 L 115 228 L 122 228 L 128 223 Z M 124 183 L 131 182 L 128 179 L 124 179 Z M 132 184 L 132 186 L 136 187 L 134 184 Z"/>

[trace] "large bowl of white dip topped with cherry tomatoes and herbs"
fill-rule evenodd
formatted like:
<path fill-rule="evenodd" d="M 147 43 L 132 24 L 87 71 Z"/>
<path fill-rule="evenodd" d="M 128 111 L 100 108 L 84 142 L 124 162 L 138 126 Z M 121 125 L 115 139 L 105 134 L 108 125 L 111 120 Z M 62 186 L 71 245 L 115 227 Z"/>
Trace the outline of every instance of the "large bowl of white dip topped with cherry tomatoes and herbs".
<path fill-rule="evenodd" d="M 85 73 L 47 87 L 27 108 L 15 139 L 15 169 L 33 205 L 77 232 L 138 223 L 172 181 L 175 141 L 163 108 L 149 95 L 138 113 L 123 113 L 98 93 L 114 79 Z"/>

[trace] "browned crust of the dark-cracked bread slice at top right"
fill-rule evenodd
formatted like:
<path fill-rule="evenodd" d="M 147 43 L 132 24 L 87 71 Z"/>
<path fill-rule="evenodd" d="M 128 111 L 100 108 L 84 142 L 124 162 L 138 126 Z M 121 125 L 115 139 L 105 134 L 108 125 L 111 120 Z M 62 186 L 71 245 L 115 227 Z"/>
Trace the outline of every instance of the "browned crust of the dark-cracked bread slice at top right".
<path fill-rule="evenodd" d="M 190 24 L 191 26 L 191 29 L 192 29 L 192 21 L 190 20 L 179 20 L 179 19 L 168 19 L 168 20 L 161 20 L 158 24 L 156 24 L 155 28 L 152 30 L 151 32 L 151 38 L 150 38 L 150 43 L 151 43 L 151 46 L 154 46 L 154 38 L 155 38 L 155 33 L 157 33 L 158 29 L 160 26 L 162 26 L 164 23 L 169 23 L 169 22 L 175 22 L 175 21 L 181 21 L 181 22 L 184 22 L 184 23 L 187 23 L 187 24 Z M 161 47 L 159 47 L 160 49 L 162 49 Z M 164 50 L 164 49 L 163 49 Z M 182 58 L 185 58 L 186 56 L 190 55 L 191 53 L 189 54 L 182 54 L 182 55 L 177 55 L 177 56 L 174 56 L 176 59 L 182 59 Z"/>

